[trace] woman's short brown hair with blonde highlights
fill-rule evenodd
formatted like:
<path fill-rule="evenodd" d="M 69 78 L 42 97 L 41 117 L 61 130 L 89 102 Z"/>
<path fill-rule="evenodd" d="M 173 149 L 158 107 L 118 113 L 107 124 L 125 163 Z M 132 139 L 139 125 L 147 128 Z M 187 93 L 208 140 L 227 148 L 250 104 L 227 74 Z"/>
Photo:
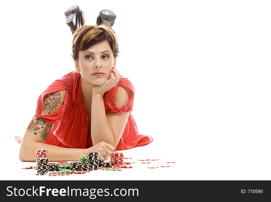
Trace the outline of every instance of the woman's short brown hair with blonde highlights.
<path fill-rule="evenodd" d="M 108 25 L 84 25 L 75 30 L 71 44 L 74 60 L 78 60 L 79 51 L 85 51 L 92 45 L 107 41 L 114 53 L 114 59 L 119 56 L 119 44 L 115 31 Z"/>

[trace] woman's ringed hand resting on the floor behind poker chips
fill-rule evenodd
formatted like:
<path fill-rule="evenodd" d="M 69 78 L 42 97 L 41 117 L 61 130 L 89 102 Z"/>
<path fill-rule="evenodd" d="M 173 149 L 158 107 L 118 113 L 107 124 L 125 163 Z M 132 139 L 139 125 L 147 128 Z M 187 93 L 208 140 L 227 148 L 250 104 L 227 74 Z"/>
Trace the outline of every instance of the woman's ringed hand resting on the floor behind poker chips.
<path fill-rule="evenodd" d="M 99 142 L 96 145 L 87 149 L 87 152 L 98 152 L 99 159 L 108 159 L 110 158 L 110 153 L 113 152 L 116 148 L 113 145 L 110 145 L 104 141 Z M 107 154 L 107 157 L 104 158 L 104 155 Z"/>

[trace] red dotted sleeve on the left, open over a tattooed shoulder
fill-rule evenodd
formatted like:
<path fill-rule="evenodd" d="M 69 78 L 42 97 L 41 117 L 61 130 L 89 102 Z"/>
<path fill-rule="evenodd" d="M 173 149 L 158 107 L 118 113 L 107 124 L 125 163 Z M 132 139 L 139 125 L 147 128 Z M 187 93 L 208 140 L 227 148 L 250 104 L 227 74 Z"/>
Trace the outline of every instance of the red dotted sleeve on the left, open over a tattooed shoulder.
<path fill-rule="evenodd" d="M 42 112 L 42 108 L 44 105 L 44 103 L 43 103 L 44 96 L 47 94 L 59 91 L 59 90 L 63 90 L 63 89 L 67 90 L 63 105 L 55 113 L 42 115 L 41 112 Z M 49 124 L 54 124 L 56 120 L 60 120 L 61 117 L 63 116 L 63 114 L 65 112 L 66 105 L 67 105 L 67 100 L 68 100 L 67 97 L 68 96 L 69 96 L 69 92 L 68 92 L 68 89 L 67 89 L 65 83 L 61 79 L 55 80 L 38 97 L 35 117 L 43 118 Z M 62 103 L 60 103 L 60 104 L 62 104 Z"/>

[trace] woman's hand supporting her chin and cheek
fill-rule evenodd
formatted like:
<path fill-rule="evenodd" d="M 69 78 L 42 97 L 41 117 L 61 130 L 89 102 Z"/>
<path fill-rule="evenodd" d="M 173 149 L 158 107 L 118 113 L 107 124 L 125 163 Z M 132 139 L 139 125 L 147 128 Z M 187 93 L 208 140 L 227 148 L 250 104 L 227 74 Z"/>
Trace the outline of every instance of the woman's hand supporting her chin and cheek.
<path fill-rule="evenodd" d="M 109 79 L 106 80 L 106 82 L 104 82 L 101 85 L 94 86 L 92 92 L 103 95 L 106 91 L 115 87 L 117 85 L 117 82 L 119 82 L 119 78 L 121 75 L 119 71 L 115 68 L 112 69 L 112 73 L 109 73 L 109 75 L 110 75 Z"/>

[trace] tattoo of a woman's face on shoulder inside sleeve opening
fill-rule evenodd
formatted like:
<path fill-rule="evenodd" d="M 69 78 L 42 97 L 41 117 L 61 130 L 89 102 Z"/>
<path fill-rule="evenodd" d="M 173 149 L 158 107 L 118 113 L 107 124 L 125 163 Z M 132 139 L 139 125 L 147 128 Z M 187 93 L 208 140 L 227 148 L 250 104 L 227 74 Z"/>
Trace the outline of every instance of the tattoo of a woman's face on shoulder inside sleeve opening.
<path fill-rule="evenodd" d="M 60 92 L 56 91 L 51 94 L 47 94 L 43 99 L 43 111 L 47 114 L 51 114 L 52 112 L 56 112 L 55 107 L 60 103 Z"/>

